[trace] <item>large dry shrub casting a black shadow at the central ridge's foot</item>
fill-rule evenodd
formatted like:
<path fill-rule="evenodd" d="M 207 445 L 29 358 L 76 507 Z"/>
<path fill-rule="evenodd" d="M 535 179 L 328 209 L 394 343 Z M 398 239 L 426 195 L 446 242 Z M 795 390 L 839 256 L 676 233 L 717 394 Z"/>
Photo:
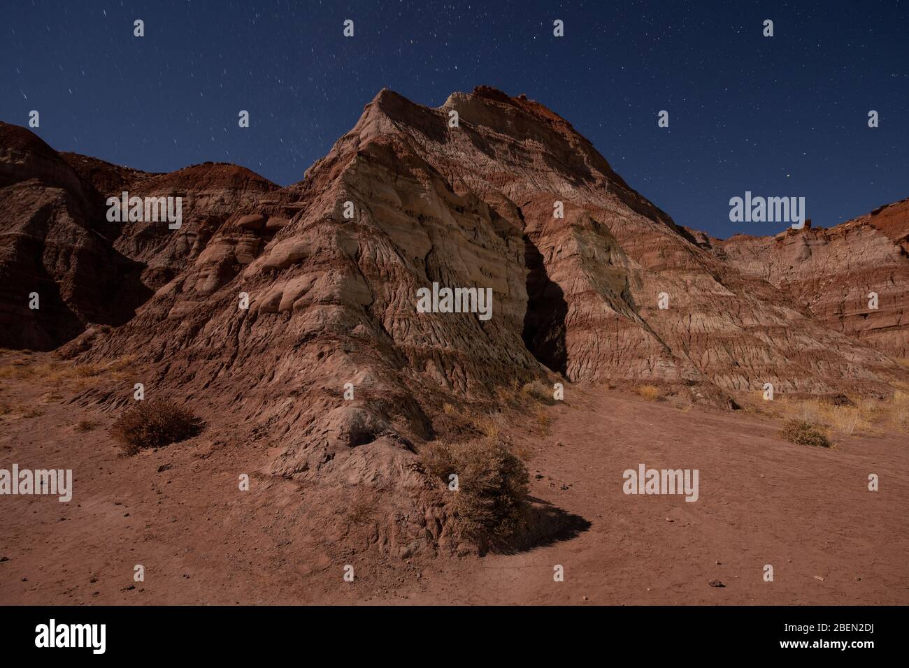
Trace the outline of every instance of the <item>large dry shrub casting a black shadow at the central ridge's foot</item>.
<path fill-rule="evenodd" d="M 445 484 L 449 475 L 457 475 L 454 514 L 467 535 L 495 540 L 524 527 L 530 476 L 524 462 L 504 444 L 426 444 L 420 459 L 427 473 Z"/>

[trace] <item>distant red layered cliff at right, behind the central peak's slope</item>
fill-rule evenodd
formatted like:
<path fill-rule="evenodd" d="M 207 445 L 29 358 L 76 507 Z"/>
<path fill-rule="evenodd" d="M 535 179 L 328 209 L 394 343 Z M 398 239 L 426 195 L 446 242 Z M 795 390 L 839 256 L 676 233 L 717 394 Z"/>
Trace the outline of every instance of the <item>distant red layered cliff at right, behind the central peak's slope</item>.
<path fill-rule="evenodd" d="M 909 200 L 837 225 L 709 245 L 836 332 L 909 357 Z"/>

